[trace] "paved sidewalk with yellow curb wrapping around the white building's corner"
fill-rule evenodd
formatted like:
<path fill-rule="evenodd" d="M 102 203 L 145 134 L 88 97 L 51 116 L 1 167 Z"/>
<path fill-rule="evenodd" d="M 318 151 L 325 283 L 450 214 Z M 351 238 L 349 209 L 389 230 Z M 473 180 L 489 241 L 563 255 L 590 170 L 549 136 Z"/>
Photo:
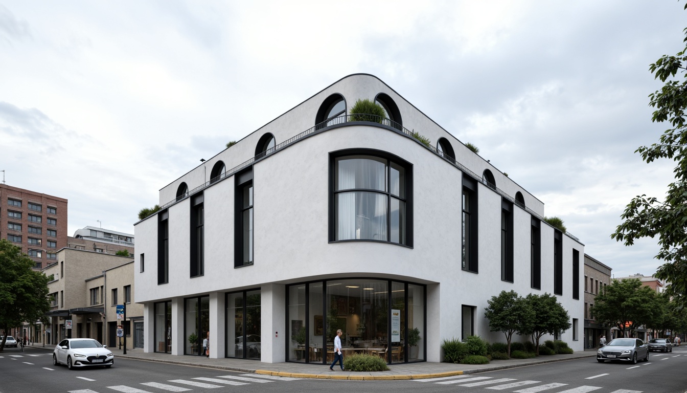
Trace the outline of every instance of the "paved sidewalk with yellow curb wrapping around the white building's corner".
<path fill-rule="evenodd" d="M 54 346 L 27 346 L 25 352 L 41 351 L 52 352 Z M 262 363 L 256 360 L 247 359 L 207 359 L 202 356 L 191 355 L 172 355 L 157 352 L 143 352 L 142 349 L 123 350 L 109 348 L 115 354 L 115 358 L 137 359 L 143 361 L 157 361 L 178 365 L 192 365 L 195 367 L 215 368 L 218 370 L 232 370 L 239 372 L 250 372 L 256 374 L 267 374 L 275 376 L 291 376 L 295 378 L 315 378 L 315 379 L 348 379 L 348 380 L 394 380 L 394 379 L 425 379 L 438 378 L 440 376 L 452 376 L 460 374 L 473 374 L 475 372 L 485 372 L 493 370 L 503 370 L 506 368 L 523 367 L 541 363 L 551 363 L 554 361 L 566 361 L 571 359 L 583 359 L 596 357 L 596 349 L 574 352 L 573 354 L 556 354 L 551 356 L 539 356 L 534 359 L 509 359 L 495 360 L 489 364 L 469 365 L 453 363 L 402 363 L 390 365 L 390 371 L 380 372 L 350 372 L 340 371 L 339 366 L 335 372 L 329 370 L 328 365 L 305 364 L 305 363 Z M 115 359 L 115 364 L 117 360 Z"/>

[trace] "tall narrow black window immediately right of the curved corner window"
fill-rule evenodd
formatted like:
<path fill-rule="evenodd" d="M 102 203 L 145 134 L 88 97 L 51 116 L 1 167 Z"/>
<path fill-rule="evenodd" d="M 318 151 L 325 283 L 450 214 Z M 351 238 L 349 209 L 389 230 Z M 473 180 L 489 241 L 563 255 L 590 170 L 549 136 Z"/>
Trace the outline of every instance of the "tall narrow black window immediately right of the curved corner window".
<path fill-rule="evenodd" d="M 477 182 L 463 175 L 462 268 L 477 273 Z"/>

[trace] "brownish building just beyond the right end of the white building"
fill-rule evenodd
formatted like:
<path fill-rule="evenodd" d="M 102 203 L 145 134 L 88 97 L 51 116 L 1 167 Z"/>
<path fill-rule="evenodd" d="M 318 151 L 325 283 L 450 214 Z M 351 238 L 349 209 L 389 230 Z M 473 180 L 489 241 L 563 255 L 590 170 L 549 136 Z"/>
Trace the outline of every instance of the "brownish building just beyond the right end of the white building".
<path fill-rule="evenodd" d="M 596 348 L 601 336 L 606 336 L 606 340 L 611 341 L 611 329 L 613 333 L 618 330 L 603 326 L 592 317 L 594 299 L 611 283 L 611 270 L 613 269 L 585 254 L 585 348 Z"/>

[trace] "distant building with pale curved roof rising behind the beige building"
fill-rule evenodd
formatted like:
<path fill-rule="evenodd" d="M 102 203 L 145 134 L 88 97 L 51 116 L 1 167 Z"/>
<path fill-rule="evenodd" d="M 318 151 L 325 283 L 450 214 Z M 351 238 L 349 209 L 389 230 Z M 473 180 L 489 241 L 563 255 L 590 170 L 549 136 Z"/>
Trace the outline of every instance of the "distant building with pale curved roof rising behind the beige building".
<path fill-rule="evenodd" d="M 131 233 L 86 226 L 83 229 L 77 229 L 74 232 L 74 237 L 67 238 L 67 247 L 106 254 L 126 250 L 133 256 L 134 237 Z"/>

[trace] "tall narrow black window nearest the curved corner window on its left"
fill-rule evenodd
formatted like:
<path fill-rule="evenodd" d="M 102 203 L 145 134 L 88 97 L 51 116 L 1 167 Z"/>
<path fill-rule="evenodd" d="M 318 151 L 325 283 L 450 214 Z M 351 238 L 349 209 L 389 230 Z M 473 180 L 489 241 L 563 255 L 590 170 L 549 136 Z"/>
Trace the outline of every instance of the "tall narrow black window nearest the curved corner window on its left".
<path fill-rule="evenodd" d="M 234 266 L 253 264 L 253 171 L 236 176 Z"/>

